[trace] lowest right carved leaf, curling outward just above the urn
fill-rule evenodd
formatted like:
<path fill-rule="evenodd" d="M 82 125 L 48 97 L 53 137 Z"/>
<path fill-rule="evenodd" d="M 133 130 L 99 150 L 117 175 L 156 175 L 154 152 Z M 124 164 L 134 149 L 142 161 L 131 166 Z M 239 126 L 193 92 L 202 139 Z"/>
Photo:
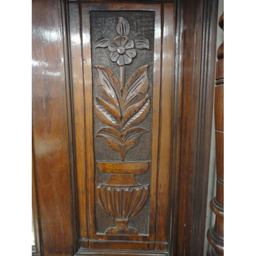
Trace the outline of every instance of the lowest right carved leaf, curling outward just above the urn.
<path fill-rule="evenodd" d="M 128 129 L 122 137 L 124 138 L 124 145 L 123 145 L 123 154 L 125 155 L 127 151 L 131 150 L 131 148 L 138 145 L 140 137 L 143 133 L 146 133 L 147 130 L 141 127 L 134 127 Z"/>

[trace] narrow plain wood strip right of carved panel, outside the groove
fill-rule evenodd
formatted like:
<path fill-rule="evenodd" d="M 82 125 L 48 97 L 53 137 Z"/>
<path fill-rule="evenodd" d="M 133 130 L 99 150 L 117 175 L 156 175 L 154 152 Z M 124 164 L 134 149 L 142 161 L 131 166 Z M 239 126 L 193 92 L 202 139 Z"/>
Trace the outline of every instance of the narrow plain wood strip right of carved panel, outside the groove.
<path fill-rule="evenodd" d="M 173 93 L 173 53 L 174 53 L 174 4 L 163 6 L 163 41 L 161 74 L 161 112 L 159 136 L 159 170 L 157 187 L 157 234 L 156 241 L 168 240 L 169 229 L 169 185 L 170 146 Z M 158 245 L 157 248 L 165 248 Z"/>

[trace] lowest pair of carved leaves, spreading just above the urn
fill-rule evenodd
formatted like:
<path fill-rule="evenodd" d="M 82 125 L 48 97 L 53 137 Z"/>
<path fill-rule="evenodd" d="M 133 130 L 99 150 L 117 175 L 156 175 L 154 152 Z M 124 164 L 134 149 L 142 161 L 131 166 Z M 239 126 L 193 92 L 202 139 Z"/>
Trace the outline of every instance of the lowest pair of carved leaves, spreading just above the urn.
<path fill-rule="evenodd" d="M 134 127 L 128 129 L 123 134 L 120 134 L 120 132 L 111 127 L 105 127 L 99 130 L 96 136 L 103 137 L 109 147 L 112 150 L 117 151 L 121 155 L 122 160 L 124 160 L 124 156 L 127 151 L 137 146 L 140 137 L 146 132 L 147 130 L 141 127 Z"/>

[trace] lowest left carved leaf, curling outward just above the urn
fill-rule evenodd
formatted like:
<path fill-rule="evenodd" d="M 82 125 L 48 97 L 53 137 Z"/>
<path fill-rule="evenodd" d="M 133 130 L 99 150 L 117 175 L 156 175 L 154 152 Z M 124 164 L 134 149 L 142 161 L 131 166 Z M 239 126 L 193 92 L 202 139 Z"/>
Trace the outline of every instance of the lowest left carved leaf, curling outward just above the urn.
<path fill-rule="evenodd" d="M 96 136 L 103 137 L 112 150 L 115 150 L 122 155 L 123 144 L 121 141 L 121 135 L 118 131 L 110 127 L 103 128 L 97 132 Z"/>

